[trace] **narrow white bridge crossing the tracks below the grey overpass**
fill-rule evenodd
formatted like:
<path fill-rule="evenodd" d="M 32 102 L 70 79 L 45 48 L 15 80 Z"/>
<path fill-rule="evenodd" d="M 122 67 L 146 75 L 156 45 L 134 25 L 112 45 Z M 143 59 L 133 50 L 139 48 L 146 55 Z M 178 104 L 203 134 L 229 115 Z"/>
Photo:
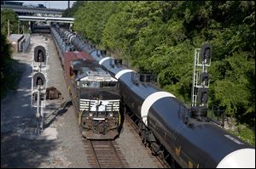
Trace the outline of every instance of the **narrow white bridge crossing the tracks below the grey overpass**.
<path fill-rule="evenodd" d="M 74 18 L 59 18 L 59 17 L 42 17 L 42 16 L 18 16 L 19 20 L 27 21 L 46 21 L 46 22 L 61 22 L 73 24 Z"/>

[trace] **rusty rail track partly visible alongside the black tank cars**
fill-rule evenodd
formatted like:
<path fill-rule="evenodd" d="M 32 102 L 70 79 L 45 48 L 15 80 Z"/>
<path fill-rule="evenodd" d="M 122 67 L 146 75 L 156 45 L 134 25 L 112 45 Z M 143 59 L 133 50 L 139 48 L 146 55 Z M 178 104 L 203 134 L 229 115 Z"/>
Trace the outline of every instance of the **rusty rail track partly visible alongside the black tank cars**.
<path fill-rule="evenodd" d="M 125 113 L 125 120 L 130 123 L 131 127 L 133 127 L 134 131 L 137 132 L 137 134 L 139 136 L 140 131 L 137 126 L 137 118 L 133 118 L 133 117 L 135 117 L 135 115 L 132 114 L 131 112 Z M 139 136 L 139 138 L 140 138 L 140 136 Z M 151 153 L 151 149 L 149 149 L 148 146 L 146 146 L 146 148 Z M 171 166 L 166 162 L 166 160 L 163 157 L 150 155 L 150 158 L 157 159 L 157 161 L 159 161 L 160 164 L 162 165 L 162 167 L 164 167 L 164 168 L 171 168 Z"/>

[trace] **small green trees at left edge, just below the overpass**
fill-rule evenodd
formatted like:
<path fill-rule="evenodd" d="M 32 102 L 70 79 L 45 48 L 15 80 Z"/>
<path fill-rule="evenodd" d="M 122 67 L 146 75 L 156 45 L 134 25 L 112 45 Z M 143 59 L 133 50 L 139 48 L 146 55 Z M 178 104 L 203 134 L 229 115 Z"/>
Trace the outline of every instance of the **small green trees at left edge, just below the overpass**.
<path fill-rule="evenodd" d="M 1 10 L 1 33 L 7 35 L 8 33 L 8 20 L 9 29 L 11 33 L 18 33 L 18 15 L 11 9 Z"/>

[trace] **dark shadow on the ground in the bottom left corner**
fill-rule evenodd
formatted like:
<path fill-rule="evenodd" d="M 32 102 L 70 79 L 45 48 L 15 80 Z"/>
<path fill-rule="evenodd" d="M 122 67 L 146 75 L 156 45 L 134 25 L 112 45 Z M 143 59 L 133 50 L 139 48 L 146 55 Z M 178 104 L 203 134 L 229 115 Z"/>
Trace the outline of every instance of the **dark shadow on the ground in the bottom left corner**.
<path fill-rule="evenodd" d="M 14 132 L 1 133 L 1 168 L 38 167 L 56 148 L 54 140 L 27 139 Z"/>

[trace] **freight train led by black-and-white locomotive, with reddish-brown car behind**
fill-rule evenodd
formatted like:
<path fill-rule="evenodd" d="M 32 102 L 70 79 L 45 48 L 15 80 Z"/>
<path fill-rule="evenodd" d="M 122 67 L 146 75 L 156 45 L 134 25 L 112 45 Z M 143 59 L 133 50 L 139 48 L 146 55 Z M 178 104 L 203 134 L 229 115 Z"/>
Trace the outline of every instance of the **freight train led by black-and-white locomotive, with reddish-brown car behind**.
<path fill-rule="evenodd" d="M 55 26 L 50 27 L 51 35 L 84 138 L 119 137 L 123 115 L 119 109 L 118 80 L 102 70 L 90 55 L 75 51 Z"/>

